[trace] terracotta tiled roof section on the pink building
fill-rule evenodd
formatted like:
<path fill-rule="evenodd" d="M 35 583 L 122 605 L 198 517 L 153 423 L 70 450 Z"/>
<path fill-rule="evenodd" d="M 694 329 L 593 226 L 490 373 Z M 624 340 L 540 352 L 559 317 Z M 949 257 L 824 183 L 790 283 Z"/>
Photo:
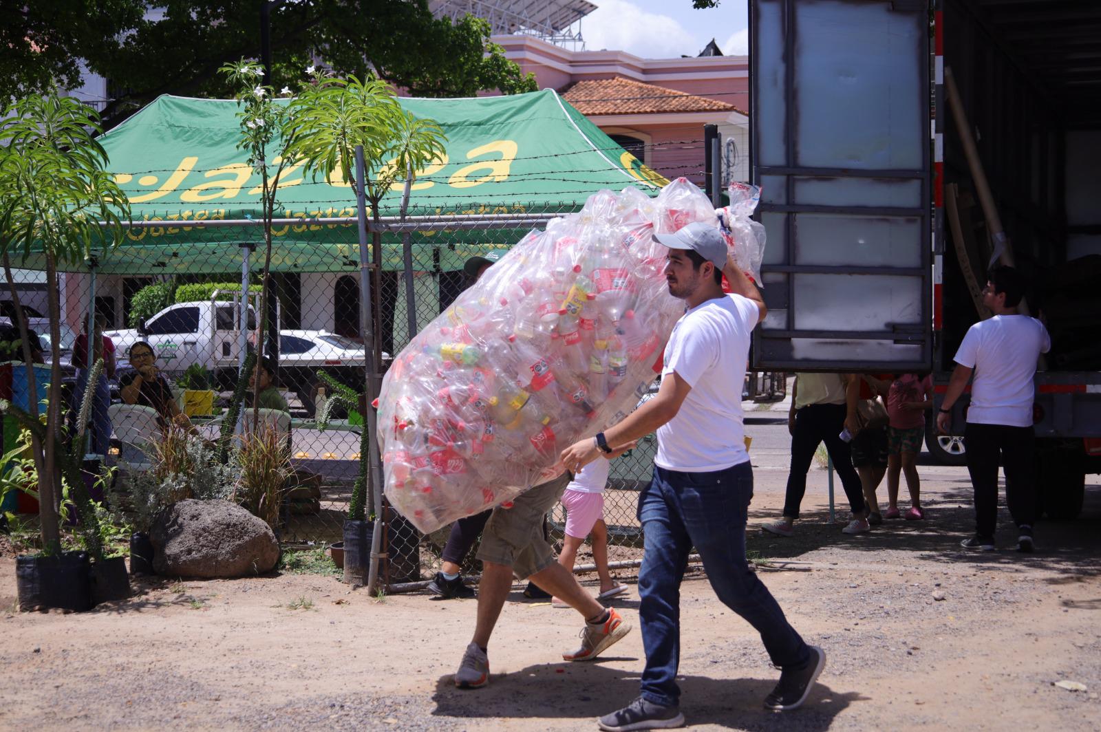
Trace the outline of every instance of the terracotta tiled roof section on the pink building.
<path fill-rule="evenodd" d="M 737 111 L 723 101 L 624 78 L 578 81 L 562 98 L 582 114 Z"/>

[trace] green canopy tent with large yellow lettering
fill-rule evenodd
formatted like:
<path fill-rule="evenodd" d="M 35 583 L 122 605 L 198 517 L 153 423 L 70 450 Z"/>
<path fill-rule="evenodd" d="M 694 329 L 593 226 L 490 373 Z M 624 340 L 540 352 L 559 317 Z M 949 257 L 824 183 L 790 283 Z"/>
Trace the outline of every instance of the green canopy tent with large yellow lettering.
<path fill-rule="evenodd" d="M 602 188 L 634 185 L 656 195 L 665 183 L 550 89 L 400 101 L 415 116 L 436 120 L 447 135 L 444 157 L 415 176 L 407 211 L 412 217 L 557 214 L 576 210 Z M 109 170 L 130 198 L 133 221 L 155 223 L 129 228 L 121 247 L 98 258 L 99 274 L 225 272 L 227 255 L 239 256 L 238 244 L 262 241 L 259 226 L 189 223 L 261 217 L 260 175 L 237 148 L 238 109 L 233 100 L 162 96 L 100 138 Z M 397 215 L 401 196 L 397 186 L 383 199 L 380 215 Z M 355 225 L 309 219 L 353 218 L 351 187 L 341 179 L 304 177 L 292 165 L 283 174 L 277 199 L 275 218 L 302 222 L 274 228 L 272 271 L 348 271 L 357 260 Z M 444 237 L 443 230 L 439 223 L 425 222 L 412 245 L 414 251 L 437 250 L 435 265 L 445 271 L 461 267 L 467 256 L 488 245 L 511 244 L 522 234 L 498 229 L 489 237 L 495 241 L 488 243 L 484 231 L 449 231 Z M 252 256 L 257 265 L 260 253 Z M 20 265 L 44 269 L 40 260 L 32 253 Z M 384 238 L 383 267 L 402 269 L 397 234 Z"/>

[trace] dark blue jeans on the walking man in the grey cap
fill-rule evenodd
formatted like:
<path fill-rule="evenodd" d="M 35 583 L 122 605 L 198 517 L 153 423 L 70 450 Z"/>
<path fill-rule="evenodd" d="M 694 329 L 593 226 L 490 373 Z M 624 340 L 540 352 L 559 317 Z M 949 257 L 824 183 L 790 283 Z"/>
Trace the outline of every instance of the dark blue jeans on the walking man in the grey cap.
<path fill-rule="evenodd" d="M 680 580 L 695 546 L 707 579 L 724 605 L 761 634 L 772 663 L 800 668 L 810 649 L 784 618 L 776 600 L 745 561 L 745 518 L 753 498 L 749 461 L 713 472 L 679 472 L 654 466 L 639 499 L 645 554 L 639 572 L 642 645 L 646 669 L 642 696 L 677 706 L 680 663 Z"/>

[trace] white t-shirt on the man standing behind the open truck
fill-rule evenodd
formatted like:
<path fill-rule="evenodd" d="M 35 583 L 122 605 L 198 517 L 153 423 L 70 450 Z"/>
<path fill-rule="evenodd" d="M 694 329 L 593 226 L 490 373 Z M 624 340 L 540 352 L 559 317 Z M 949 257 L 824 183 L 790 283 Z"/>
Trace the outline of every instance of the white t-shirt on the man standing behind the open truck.
<path fill-rule="evenodd" d="M 967 420 L 1031 427 L 1036 360 L 1051 348 L 1047 329 L 1027 315 L 995 315 L 967 331 L 956 362 L 974 369 Z"/>

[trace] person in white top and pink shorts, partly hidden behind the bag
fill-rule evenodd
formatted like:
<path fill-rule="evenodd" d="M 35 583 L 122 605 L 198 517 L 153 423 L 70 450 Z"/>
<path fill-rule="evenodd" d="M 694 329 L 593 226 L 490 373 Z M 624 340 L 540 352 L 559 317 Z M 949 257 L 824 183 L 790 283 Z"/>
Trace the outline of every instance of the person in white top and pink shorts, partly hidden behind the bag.
<path fill-rule="evenodd" d="M 597 600 L 604 601 L 626 592 L 626 584 L 620 584 L 608 571 L 608 526 L 604 524 L 604 484 L 608 482 L 610 461 L 593 460 L 574 476 L 573 482 L 562 494 L 562 505 L 566 509 L 566 540 L 563 542 L 558 564 L 574 571 L 577 550 L 585 539 L 592 535 L 592 560 L 600 577 L 600 593 Z M 558 598 L 550 602 L 556 608 L 567 608 Z"/>

